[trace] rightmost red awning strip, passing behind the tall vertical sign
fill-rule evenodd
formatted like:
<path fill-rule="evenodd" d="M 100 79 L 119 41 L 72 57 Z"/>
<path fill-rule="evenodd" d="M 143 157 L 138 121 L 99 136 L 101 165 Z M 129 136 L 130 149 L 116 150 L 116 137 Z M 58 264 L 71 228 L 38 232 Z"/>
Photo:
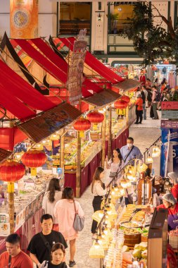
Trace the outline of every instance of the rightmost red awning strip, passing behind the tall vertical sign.
<path fill-rule="evenodd" d="M 63 44 L 65 46 L 70 47 L 70 49 L 73 49 L 73 44 L 75 42 L 75 37 L 68 37 L 68 38 L 60 38 Z M 98 59 L 95 58 L 89 51 L 87 51 L 87 54 L 85 56 L 85 63 L 89 65 L 91 68 L 94 69 L 97 73 L 103 76 L 103 78 L 106 78 L 108 81 L 112 83 L 118 83 L 122 82 L 124 79 L 121 78 L 119 75 L 111 71 L 109 68 L 103 65 Z"/>

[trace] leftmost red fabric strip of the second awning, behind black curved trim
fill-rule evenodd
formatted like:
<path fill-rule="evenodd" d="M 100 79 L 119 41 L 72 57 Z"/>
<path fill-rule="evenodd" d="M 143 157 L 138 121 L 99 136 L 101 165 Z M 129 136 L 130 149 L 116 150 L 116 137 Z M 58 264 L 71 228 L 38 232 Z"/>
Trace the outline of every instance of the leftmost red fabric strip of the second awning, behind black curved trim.
<path fill-rule="evenodd" d="M 56 78 L 57 80 L 60 80 L 62 83 L 67 82 L 67 75 L 59 70 L 49 59 L 46 59 L 37 49 L 34 49 L 27 40 L 25 39 L 15 39 L 15 42 L 17 42 L 20 47 L 32 58 L 34 61 L 36 61 L 39 66 L 42 66 L 44 70 L 46 70 L 48 73 L 50 73 L 53 78 Z"/>

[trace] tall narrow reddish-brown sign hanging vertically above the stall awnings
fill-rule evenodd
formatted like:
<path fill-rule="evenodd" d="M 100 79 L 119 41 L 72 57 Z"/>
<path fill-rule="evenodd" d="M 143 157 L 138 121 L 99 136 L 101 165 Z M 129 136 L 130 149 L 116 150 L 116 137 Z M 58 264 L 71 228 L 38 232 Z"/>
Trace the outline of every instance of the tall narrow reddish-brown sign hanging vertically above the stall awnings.
<path fill-rule="evenodd" d="M 68 71 L 67 87 L 70 93 L 69 100 L 71 104 L 77 104 L 82 97 L 82 83 L 84 58 L 87 52 L 87 41 L 84 40 L 87 30 L 80 30 L 77 41 L 74 42 L 72 58 Z"/>

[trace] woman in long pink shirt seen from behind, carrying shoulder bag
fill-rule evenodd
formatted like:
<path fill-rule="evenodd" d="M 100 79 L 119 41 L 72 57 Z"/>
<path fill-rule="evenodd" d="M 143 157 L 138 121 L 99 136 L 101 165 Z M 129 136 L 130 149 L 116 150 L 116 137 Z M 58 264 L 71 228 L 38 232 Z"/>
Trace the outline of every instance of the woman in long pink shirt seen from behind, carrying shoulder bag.
<path fill-rule="evenodd" d="M 74 206 L 75 202 L 75 206 Z M 75 208 L 80 217 L 84 217 L 84 212 L 80 203 L 74 200 L 74 192 L 70 187 L 65 187 L 63 190 L 62 199 L 56 202 L 53 209 L 54 217 L 58 218 L 58 231 L 60 231 L 65 240 L 70 243 L 70 263 L 69 267 L 73 267 L 76 263 L 75 256 L 75 240 L 78 232 L 73 228 L 75 219 Z"/>

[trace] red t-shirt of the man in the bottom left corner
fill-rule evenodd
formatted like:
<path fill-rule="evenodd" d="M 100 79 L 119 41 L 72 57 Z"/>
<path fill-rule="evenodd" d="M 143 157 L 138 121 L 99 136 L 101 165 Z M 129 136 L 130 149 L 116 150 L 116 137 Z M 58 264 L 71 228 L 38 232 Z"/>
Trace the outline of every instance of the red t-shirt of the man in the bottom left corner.
<path fill-rule="evenodd" d="M 3 252 L 0 256 L 0 268 L 8 267 L 8 252 Z M 15 257 L 11 257 L 10 268 L 33 268 L 33 262 L 25 252 L 20 251 Z"/>

